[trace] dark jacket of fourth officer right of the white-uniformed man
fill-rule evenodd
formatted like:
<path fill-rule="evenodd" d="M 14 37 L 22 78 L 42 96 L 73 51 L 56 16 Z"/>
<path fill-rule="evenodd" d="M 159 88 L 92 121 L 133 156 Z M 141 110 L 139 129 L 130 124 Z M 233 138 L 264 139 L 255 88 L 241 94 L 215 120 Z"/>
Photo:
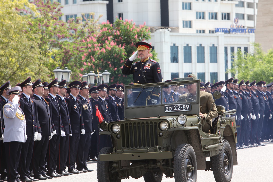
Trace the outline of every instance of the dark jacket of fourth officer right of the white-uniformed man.
<path fill-rule="evenodd" d="M 60 96 L 56 95 L 59 106 L 60 106 L 60 113 L 61 113 L 61 119 L 63 124 L 63 130 L 66 134 L 71 134 L 71 125 L 70 125 L 70 117 L 68 113 L 68 108 L 66 105 L 66 99 L 62 99 Z"/>

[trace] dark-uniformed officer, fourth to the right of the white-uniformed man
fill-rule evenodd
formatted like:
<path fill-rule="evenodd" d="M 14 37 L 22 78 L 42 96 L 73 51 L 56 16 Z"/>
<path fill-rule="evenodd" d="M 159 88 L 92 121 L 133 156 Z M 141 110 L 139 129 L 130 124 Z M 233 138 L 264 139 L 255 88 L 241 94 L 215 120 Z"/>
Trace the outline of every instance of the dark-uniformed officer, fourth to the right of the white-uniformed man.
<path fill-rule="evenodd" d="M 68 113 L 68 108 L 64 96 L 66 95 L 66 80 L 63 80 L 59 83 L 59 93 L 56 95 L 61 113 L 61 120 L 63 124 L 63 130 L 66 136 L 60 138 L 60 154 L 57 158 L 57 168 L 56 172 L 62 175 L 71 175 L 73 173 L 68 173 L 65 171 L 65 165 L 67 161 L 68 151 L 69 151 L 69 135 L 72 135 L 71 125 L 70 125 L 70 116 Z"/>

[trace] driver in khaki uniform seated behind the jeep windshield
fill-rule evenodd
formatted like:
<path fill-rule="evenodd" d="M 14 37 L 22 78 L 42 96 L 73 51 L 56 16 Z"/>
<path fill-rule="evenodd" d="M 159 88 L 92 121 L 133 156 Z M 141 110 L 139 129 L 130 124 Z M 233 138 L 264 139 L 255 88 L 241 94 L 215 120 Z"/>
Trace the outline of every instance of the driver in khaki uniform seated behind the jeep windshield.
<path fill-rule="evenodd" d="M 197 80 L 197 77 L 194 74 L 189 74 L 188 77 L 194 77 L 194 80 Z M 196 90 L 197 90 L 196 83 L 188 84 L 186 87 L 187 87 L 189 93 L 185 93 L 185 94 L 181 95 L 180 98 L 191 98 L 191 99 L 196 100 Z M 200 112 L 199 112 L 199 115 L 202 118 L 202 124 L 208 115 L 208 112 L 209 112 L 209 109 L 210 109 L 212 103 L 213 103 L 212 94 L 210 94 L 208 92 L 200 91 Z M 207 120 L 202 127 L 202 130 L 204 132 L 210 133 L 210 131 L 212 130 L 212 118 L 216 118 L 217 115 L 218 115 L 218 111 L 217 111 L 216 105 L 213 104 L 212 109 L 209 112 L 209 115 L 207 117 Z"/>

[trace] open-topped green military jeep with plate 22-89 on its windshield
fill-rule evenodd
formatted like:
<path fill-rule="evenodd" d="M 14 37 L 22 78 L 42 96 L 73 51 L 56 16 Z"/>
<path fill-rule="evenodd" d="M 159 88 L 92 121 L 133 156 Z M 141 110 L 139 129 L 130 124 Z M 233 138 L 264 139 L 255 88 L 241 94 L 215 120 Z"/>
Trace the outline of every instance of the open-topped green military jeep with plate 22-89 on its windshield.
<path fill-rule="evenodd" d="M 142 176 L 146 182 L 159 182 L 163 174 L 188 182 L 197 180 L 197 170 L 213 171 L 216 181 L 231 181 L 233 165 L 237 165 L 239 126 L 232 116 L 236 110 L 217 106 L 211 134 L 204 133 L 199 116 L 200 80 L 192 79 L 125 87 L 124 120 L 99 125 L 103 130 L 99 134 L 111 135 L 113 145 L 99 152 L 99 182 Z M 195 99 L 164 97 L 169 87 L 188 84 L 196 85 Z M 151 102 L 153 94 L 160 97 Z M 221 93 L 213 96 L 220 98 Z"/>

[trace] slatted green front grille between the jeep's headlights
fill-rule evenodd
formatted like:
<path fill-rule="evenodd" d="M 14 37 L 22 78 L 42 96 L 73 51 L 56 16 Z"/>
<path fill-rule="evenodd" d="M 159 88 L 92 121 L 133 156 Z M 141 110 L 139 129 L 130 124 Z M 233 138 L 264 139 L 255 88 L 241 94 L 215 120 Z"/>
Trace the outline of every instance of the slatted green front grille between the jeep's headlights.
<path fill-rule="evenodd" d="M 158 123 L 152 121 L 121 124 L 122 148 L 155 148 L 158 146 Z"/>

